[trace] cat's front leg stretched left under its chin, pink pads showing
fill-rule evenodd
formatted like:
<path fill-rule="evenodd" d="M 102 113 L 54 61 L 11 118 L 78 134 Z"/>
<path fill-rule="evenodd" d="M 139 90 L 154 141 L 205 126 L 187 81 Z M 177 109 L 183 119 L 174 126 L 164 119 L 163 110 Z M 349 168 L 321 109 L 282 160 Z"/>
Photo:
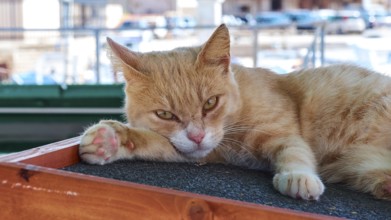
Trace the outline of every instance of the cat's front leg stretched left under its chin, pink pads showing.
<path fill-rule="evenodd" d="M 165 137 L 113 120 L 102 120 L 84 132 L 80 140 L 79 155 L 87 163 L 100 165 L 134 158 L 185 160 Z"/>

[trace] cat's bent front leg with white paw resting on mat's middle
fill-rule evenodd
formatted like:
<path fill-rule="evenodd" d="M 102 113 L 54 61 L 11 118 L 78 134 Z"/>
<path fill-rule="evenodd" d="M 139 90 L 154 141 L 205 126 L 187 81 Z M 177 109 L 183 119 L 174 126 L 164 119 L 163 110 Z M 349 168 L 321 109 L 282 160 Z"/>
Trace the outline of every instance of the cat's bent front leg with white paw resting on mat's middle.
<path fill-rule="evenodd" d="M 278 191 L 298 199 L 319 199 L 325 187 L 316 173 L 314 154 L 301 137 L 276 138 L 265 148 L 273 161 L 273 185 Z"/>

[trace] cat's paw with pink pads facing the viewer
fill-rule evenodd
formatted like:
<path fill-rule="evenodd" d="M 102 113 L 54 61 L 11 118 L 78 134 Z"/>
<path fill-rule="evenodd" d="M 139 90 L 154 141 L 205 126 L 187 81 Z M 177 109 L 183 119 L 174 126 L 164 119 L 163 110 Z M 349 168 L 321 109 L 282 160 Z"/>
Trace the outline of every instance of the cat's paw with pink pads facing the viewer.
<path fill-rule="evenodd" d="M 80 158 L 90 164 L 107 164 L 120 157 L 120 138 L 113 127 L 99 123 L 87 129 L 80 140 Z M 129 149 L 133 144 L 129 143 Z"/>

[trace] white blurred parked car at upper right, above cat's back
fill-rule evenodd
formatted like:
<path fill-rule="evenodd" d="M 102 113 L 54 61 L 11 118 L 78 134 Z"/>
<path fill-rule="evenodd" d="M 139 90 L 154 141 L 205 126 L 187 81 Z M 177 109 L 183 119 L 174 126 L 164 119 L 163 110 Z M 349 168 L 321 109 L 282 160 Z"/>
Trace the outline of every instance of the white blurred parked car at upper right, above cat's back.
<path fill-rule="evenodd" d="M 359 11 L 342 10 L 330 19 L 326 26 L 327 33 L 347 34 L 362 33 L 365 30 L 365 21 Z"/>

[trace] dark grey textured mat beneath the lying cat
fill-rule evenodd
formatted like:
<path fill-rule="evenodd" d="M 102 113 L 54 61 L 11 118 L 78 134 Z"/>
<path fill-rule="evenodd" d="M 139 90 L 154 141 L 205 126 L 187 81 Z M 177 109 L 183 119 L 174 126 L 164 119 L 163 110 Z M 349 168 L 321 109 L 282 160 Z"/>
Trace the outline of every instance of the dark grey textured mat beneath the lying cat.
<path fill-rule="evenodd" d="M 326 185 L 319 201 L 295 200 L 274 190 L 268 173 L 221 164 L 118 161 L 104 166 L 79 163 L 64 170 L 323 215 L 391 219 L 391 202 L 341 185 Z"/>

